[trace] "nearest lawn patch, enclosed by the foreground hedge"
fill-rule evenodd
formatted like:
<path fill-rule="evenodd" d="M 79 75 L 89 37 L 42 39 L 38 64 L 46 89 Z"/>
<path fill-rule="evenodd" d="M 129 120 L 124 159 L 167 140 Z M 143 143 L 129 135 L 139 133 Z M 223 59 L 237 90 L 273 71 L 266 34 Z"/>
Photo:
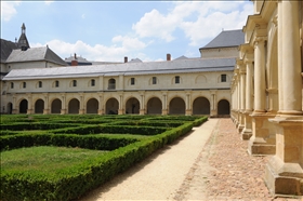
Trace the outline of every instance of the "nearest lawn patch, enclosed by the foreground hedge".
<path fill-rule="evenodd" d="M 1 172 L 56 174 L 105 152 L 108 151 L 49 146 L 19 148 L 1 152 Z"/>

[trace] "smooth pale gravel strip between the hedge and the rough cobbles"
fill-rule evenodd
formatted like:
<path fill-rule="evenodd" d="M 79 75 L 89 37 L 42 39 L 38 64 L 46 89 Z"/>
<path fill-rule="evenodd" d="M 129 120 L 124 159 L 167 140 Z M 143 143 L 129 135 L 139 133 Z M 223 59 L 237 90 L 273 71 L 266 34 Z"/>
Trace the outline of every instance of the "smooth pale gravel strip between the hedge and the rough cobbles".
<path fill-rule="evenodd" d="M 174 200 L 216 123 L 218 119 L 210 119 L 194 128 L 188 135 L 117 175 L 81 201 Z"/>

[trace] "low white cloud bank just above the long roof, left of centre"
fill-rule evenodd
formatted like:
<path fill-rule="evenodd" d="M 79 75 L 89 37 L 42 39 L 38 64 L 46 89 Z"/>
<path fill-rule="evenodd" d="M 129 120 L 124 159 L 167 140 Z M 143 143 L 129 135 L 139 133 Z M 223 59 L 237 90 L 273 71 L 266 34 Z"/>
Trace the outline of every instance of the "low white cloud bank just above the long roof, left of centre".
<path fill-rule="evenodd" d="M 77 55 L 81 55 L 88 61 L 97 61 L 97 62 L 123 62 L 123 57 L 121 55 L 126 55 L 131 57 L 134 56 L 144 56 L 142 53 L 137 53 L 147 44 L 140 41 L 139 39 L 133 39 L 130 37 L 115 37 L 113 38 L 114 44 L 110 46 L 105 46 L 102 44 L 90 45 L 84 43 L 81 40 L 76 41 L 76 43 L 68 43 L 61 40 L 51 40 L 45 44 L 34 43 L 30 46 L 45 46 L 54 51 L 57 55 L 60 55 L 63 59 L 65 57 L 69 57 L 74 53 Z M 116 43 L 121 43 L 121 45 L 117 45 Z M 149 59 L 148 57 L 141 57 L 141 59 Z"/>

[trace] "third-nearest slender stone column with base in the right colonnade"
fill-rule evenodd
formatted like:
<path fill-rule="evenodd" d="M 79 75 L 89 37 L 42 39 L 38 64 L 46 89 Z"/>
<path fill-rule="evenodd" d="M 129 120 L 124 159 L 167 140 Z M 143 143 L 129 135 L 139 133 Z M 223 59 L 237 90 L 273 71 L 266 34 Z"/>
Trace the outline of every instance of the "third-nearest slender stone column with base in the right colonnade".
<path fill-rule="evenodd" d="M 252 59 L 246 59 L 246 106 L 245 106 L 245 128 L 241 132 L 241 139 L 247 140 L 252 135 Z"/>

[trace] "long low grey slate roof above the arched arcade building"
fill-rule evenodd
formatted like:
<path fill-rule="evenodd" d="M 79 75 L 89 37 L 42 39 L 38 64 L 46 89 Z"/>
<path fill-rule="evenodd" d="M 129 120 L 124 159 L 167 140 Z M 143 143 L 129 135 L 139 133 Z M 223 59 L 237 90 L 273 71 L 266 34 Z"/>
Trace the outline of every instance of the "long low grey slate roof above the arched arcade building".
<path fill-rule="evenodd" d="M 122 63 L 76 67 L 53 67 L 11 70 L 3 80 L 83 78 L 97 76 L 135 76 L 160 73 L 185 73 L 205 71 L 233 71 L 236 59 L 189 58 L 164 62 Z"/>

